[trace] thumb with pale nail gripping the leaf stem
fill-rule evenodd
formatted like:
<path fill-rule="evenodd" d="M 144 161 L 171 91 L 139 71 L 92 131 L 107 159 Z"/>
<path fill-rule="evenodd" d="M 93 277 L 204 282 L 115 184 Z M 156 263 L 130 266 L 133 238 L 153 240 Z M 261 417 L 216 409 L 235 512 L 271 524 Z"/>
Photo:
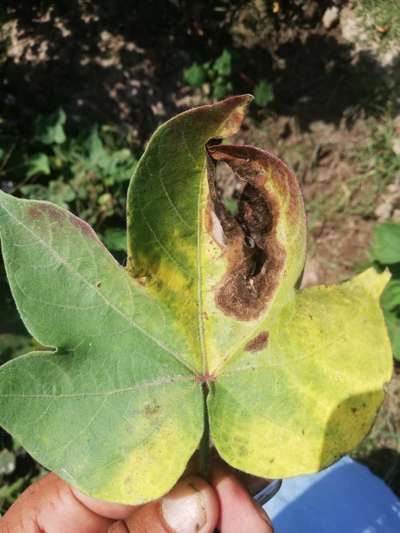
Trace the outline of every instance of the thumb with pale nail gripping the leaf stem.
<path fill-rule="evenodd" d="M 198 477 L 180 481 L 161 500 L 138 507 L 108 533 L 212 533 L 219 514 L 214 489 Z"/>

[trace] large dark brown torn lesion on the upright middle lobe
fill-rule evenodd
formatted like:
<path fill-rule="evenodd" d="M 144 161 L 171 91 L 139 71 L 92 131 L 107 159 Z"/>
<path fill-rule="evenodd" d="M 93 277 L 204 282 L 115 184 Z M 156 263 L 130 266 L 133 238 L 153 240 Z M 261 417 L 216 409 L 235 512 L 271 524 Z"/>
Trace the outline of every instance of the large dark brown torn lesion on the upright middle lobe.
<path fill-rule="evenodd" d="M 279 207 L 265 187 L 269 167 L 255 157 L 259 152 L 243 146 L 207 146 L 208 229 L 227 262 L 215 301 L 224 313 L 240 320 L 256 319 L 265 310 L 285 259 L 276 236 Z M 224 163 L 225 170 L 219 172 Z"/>

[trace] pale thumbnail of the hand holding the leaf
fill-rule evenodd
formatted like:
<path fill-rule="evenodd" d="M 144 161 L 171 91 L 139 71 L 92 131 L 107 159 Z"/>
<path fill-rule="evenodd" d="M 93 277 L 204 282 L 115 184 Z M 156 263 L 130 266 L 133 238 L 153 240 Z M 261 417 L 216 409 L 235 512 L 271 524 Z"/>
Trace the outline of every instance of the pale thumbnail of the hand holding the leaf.
<path fill-rule="evenodd" d="M 201 491 L 190 479 L 179 483 L 163 498 L 161 513 L 173 532 L 198 532 L 207 523 L 207 510 Z"/>

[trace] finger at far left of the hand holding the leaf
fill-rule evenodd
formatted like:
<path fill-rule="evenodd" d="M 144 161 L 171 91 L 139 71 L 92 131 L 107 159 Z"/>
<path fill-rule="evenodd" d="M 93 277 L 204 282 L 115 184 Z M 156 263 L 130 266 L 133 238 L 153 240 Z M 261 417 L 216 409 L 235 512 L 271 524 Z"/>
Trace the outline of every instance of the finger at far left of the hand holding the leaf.
<path fill-rule="evenodd" d="M 105 533 L 134 508 L 74 491 L 55 474 L 31 485 L 0 521 L 1 533 Z"/>

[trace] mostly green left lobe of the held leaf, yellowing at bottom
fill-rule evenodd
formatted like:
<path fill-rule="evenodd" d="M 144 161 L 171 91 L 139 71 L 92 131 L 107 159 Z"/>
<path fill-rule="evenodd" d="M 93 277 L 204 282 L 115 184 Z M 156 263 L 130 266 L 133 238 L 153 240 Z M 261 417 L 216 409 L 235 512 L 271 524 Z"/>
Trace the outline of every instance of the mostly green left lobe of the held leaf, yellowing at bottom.
<path fill-rule="evenodd" d="M 59 207 L 0 192 L 0 228 L 21 317 L 49 347 L 2 367 L 2 425 L 90 494 L 163 494 L 203 428 L 201 390 L 169 311 Z"/>

